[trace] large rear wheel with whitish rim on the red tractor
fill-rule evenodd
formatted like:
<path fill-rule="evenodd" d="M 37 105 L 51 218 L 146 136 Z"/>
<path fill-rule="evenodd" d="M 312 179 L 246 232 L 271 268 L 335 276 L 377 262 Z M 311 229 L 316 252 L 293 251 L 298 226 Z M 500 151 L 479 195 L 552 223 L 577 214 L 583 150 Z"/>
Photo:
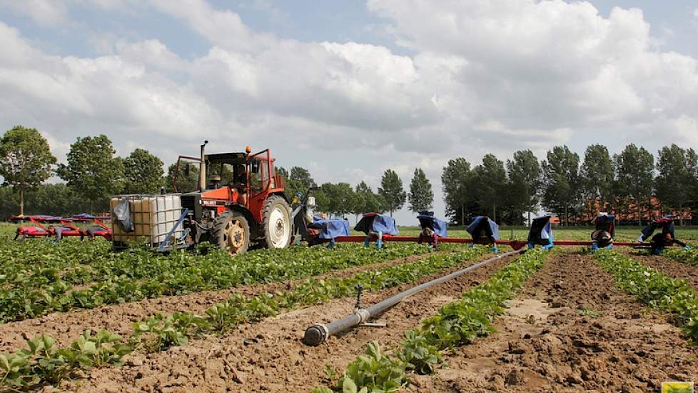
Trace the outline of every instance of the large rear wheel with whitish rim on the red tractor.
<path fill-rule="evenodd" d="M 268 249 L 288 247 L 292 237 L 290 207 L 285 199 L 273 195 L 262 209 L 262 244 Z"/>

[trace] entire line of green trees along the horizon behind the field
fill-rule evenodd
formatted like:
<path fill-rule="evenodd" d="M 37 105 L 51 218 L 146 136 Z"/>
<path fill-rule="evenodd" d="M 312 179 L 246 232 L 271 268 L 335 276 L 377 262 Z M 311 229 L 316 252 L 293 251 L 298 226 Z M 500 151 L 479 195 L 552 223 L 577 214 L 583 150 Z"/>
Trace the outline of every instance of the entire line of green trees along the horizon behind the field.
<path fill-rule="evenodd" d="M 180 168 L 177 190 L 193 191 L 198 166 Z M 175 164 L 163 171 L 163 161 L 145 149 L 116 156 L 105 135 L 78 138 L 65 164 L 56 164 L 49 143 L 36 129 L 16 126 L 0 139 L 0 218 L 13 214 L 76 214 L 108 211 L 113 194 L 173 191 Z M 297 192 L 318 186 L 307 169 L 278 167 L 286 179 L 289 200 Z M 486 154 L 472 166 L 465 158 L 448 161 L 441 174 L 447 218 L 455 224 L 487 215 L 505 224 L 523 224 L 525 215 L 543 209 L 563 223 L 590 221 L 599 211 L 615 209 L 620 221 L 644 222 L 674 212 L 688 218 L 698 208 L 698 156 L 693 149 L 672 144 L 655 157 L 629 144 L 611 156 L 606 146 L 588 146 L 583 159 L 567 146 L 555 146 L 539 161 L 530 150 L 516 151 L 502 161 Z M 52 176 L 63 183 L 47 184 Z M 376 191 L 364 181 L 324 183 L 314 193 L 320 212 L 333 216 L 433 208 L 432 184 L 421 168 L 413 172 L 407 189 L 388 169 Z M 697 214 L 692 214 L 696 217 Z"/>

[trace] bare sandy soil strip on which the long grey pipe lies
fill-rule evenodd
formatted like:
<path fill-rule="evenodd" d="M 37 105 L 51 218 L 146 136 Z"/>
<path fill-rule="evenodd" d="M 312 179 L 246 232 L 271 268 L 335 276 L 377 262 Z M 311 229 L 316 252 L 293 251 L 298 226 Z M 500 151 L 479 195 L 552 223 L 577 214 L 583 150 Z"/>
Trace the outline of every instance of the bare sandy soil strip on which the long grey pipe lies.
<path fill-rule="evenodd" d="M 487 257 L 490 256 L 472 259 L 464 266 Z M 354 299 L 335 299 L 256 324 L 241 325 L 223 337 L 193 340 L 188 347 L 171 348 L 156 354 L 135 354 L 122 367 L 94 370 L 79 384 L 69 383 L 64 387 L 79 392 L 108 389 L 114 392 L 310 391 L 323 384 L 325 364 L 345 369 L 373 339 L 387 346 L 397 344 L 403 339 L 405 330 L 418 326 L 421 320 L 431 317 L 440 306 L 456 299 L 467 288 L 484 282 L 508 260 L 497 260 L 405 299 L 378 319 L 387 322 L 388 327 L 360 327 L 340 337 L 331 337 L 327 344 L 318 347 L 302 344 L 300 339 L 311 324 L 330 322 L 353 311 Z M 365 294 L 364 302 L 375 304 L 416 284 L 461 268 L 445 269 L 412 284 Z"/>

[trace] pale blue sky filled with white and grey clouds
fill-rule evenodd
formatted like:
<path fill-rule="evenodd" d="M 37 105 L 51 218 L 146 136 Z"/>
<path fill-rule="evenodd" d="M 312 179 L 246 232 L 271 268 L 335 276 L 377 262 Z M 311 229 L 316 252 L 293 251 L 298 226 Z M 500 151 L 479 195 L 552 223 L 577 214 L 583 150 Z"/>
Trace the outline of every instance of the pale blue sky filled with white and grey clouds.
<path fill-rule="evenodd" d="M 441 213 L 456 156 L 698 149 L 697 41 L 697 0 L 0 0 L 0 129 L 374 189 L 420 166 Z"/>

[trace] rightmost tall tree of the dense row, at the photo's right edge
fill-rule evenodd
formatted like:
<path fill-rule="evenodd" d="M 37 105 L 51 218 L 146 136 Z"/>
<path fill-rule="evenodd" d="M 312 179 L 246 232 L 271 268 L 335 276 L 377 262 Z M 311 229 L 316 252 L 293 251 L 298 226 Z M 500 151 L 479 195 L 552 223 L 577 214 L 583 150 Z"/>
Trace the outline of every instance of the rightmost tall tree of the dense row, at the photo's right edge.
<path fill-rule="evenodd" d="M 654 179 L 657 199 L 665 207 L 683 213 L 696 188 L 696 168 L 698 156 L 693 149 L 684 150 L 676 144 L 662 147 L 657 156 L 657 178 Z M 683 214 L 679 220 L 683 224 Z"/>

